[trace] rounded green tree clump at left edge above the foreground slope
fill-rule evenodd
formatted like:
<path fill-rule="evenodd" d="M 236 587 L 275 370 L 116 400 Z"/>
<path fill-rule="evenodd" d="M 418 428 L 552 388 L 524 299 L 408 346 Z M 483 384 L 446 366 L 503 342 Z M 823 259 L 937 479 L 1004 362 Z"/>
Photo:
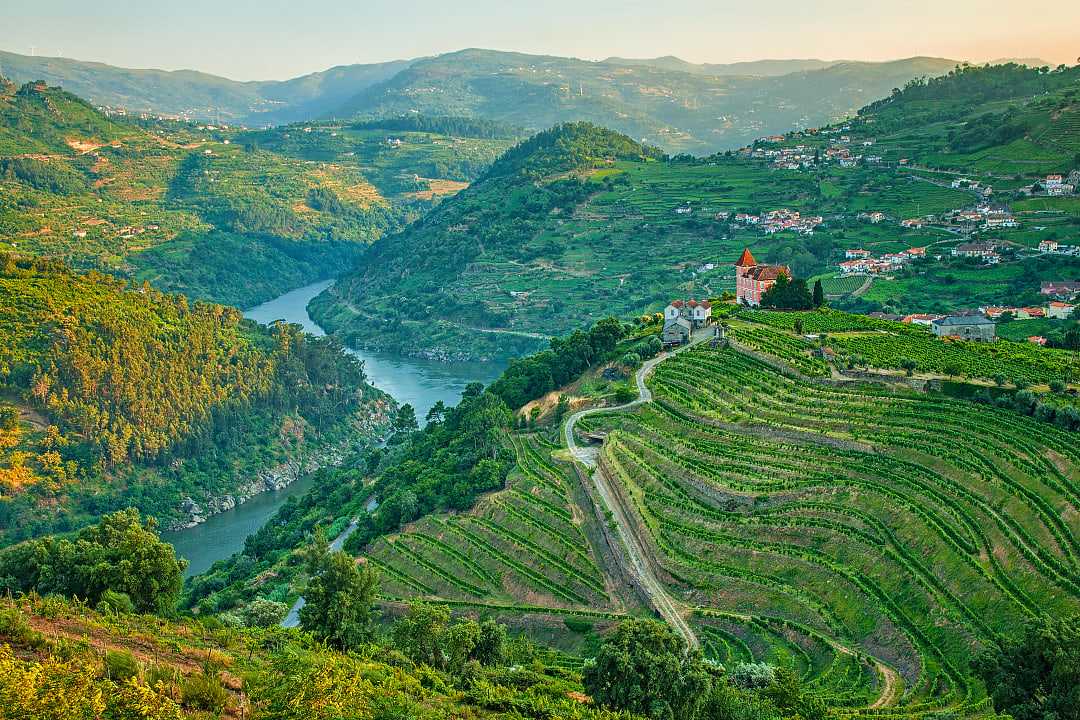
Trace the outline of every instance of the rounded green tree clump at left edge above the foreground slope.
<path fill-rule="evenodd" d="M 158 539 L 153 518 L 144 520 L 136 510 L 107 515 L 73 539 L 49 536 L 0 552 L 0 578 L 16 589 L 91 603 L 116 602 L 111 593 L 122 593 L 140 612 L 173 610 L 185 565 Z"/>

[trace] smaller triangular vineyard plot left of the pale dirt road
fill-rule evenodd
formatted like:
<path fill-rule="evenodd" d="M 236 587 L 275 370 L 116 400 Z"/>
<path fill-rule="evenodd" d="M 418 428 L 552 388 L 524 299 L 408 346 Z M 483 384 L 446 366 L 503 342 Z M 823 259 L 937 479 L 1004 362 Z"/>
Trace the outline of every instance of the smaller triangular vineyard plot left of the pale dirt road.
<path fill-rule="evenodd" d="M 370 548 L 366 559 L 382 570 L 383 592 L 605 614 L 611 599 L 584 530 L 592 510 L 578 507 L 569 468 L 537 436 L 510 443 L 517 470 L 507 490 L 468 514 L 424 517 Z"/>

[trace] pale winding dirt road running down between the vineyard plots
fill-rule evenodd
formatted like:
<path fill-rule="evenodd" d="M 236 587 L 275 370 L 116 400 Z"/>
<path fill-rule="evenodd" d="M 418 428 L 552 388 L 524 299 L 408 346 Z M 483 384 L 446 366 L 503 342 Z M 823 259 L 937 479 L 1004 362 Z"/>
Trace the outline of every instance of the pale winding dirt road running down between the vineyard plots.
<path fill-rule="evenodd" d="M 634 524 L 631 522 L 630 518 L 623 511 L 622 503 L 618 500 L 615 481 L 608 476 L 607 473 L 604 472 L 603 467 L 600 467 L 597 462 L 598 448 L 583 448 L 579 446 L 573 437 L 573 426 L 579 420 L 591 415 L 596 415 L 598 412 L 625 411 L 633 409 L 638 405 L 652 402 L 652 391 L 648 389 L 645 381 L 649 377 L 649 373 L 652 372 L 653 368 L 669 357 L 672 357 L 688 348 L 692 348 L 693 345 L 704 342 L 712 337 L 712 332 L 702 331 L 699 334 L 699 337 L 691 340 L 689 344 L 683 345 L 674 352 L 658 355 L 642 365 L 640 369 L 638 369 L 637 373 L 634 376 L 634 382 L 637 384 L 636 400 L 615 407 L 579 410 L 567 418 L 566 424 L 563 426 L 563 437 L 566 440 L 566 447 L 570 450 L 571 457 L 586 467 L 588 472 L 585 474 L 592 480 L 593 488 L 596 490 L 596 494 L 599 497 L 600 502 L 604 503 L 604 507 L 602 510 L 609 514 L 610 518 L 615 522 L 615 529 L 619 540 L 626 551 L 625 557 L 627 558 L 630 566 L 624 568 L 624 570 L 637 582 L 638 587 L 640 587 L 642 592 L 647 596 L 649 604 L 651 604 L 660 616 L 663 617 L 676 633 L 681 635 L 692 648 L 698 648 L 700 646 L 698 642 L 698 636 L 693 634 L 693 630 L 690 629 L 690 625 L 686 622 L 685 609 L 681 609 L 676 601 L 672 599 L 672 597 L 667 594 L 667 589 L 657 576 L 650 561 L 649 553 L 645 549 L 644 541 L 638 536 L 634 529 Z"/>

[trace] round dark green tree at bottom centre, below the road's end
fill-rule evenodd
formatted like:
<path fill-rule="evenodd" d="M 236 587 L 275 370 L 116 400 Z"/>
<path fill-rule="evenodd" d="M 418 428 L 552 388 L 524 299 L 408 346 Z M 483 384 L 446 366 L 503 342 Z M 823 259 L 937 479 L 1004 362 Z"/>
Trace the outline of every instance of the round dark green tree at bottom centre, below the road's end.
<path fill-rule="evenodd" d="M 657 621 L 619 625 L 584 673 L 597 703 L 653 720 L 697 717 L 710 683 L 701 654 Z"/>

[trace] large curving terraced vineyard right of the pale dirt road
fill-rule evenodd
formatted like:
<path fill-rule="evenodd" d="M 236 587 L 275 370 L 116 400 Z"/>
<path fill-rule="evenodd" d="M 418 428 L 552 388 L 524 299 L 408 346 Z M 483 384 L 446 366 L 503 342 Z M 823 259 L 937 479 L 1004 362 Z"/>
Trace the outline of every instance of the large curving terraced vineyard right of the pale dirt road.
<path fill-rule="evenodd" d="M 650 386 L 583 427 L 717 661 L 792 666 L 841 716 L 982 717 L 973 649 L 1080 607 L 1074 434 L 732 349 Z"/>

